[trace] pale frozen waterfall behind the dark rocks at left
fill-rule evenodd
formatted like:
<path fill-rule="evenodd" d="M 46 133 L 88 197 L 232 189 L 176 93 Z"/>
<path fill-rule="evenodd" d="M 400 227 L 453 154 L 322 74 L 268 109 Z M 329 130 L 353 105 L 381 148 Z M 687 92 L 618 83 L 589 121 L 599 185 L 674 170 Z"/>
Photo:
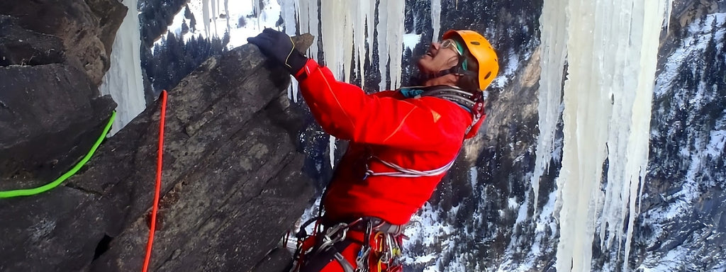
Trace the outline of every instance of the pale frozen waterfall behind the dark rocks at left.
<path fill-rule="evenodd" d="M 102 95 L 110 94 L 118 104 L 110 135 L 121 130 L 146 108 L 139 52 L 141 33 L 136 2 L 136 0 L 123 1 L 129 10 L 116 33 L 110 56 L 111 67 L 103 76 L 100 87 Z"/>

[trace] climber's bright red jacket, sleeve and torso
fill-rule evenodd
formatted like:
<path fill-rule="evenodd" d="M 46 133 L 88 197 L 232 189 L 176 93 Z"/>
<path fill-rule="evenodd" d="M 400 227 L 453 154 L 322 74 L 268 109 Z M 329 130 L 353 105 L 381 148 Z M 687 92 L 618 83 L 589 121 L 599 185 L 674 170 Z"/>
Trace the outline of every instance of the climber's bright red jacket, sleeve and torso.
<path fill-rule="evenodd" d="M 336 81 L 313 59 L 296 78 L 323 130 L 350 141 L 323 199 L 325 216 L 334 221 L 375 216 L 396 225 L 408 223 L 445 173 L 366 176 L 367 168 L 376 173 L 395 171 L 381 161 L 422 171 L 449 164 L 472 123 L 470 112 L 433 96 L 405 98 L 399 91 L 365 94 L 358 86 Z M 466 138 L 476 134 L 481 120 Z"/>

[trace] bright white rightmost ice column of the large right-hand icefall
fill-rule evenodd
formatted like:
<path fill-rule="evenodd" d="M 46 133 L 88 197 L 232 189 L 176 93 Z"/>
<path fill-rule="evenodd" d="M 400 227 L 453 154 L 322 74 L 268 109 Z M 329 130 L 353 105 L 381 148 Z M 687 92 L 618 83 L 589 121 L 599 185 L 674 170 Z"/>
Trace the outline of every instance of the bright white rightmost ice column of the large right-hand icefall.
<path fill-rule="evenodd" d="M 653 98 L 658 46 L 660 44 L 661 22 L 667 21 L 666 9 L 670 1 L 624 1 L 616 7 L 615 13 L 632 15 L 629 25 L 622 25 L 624 31 L 613 25 L 613 36 L 621 36 L 621 44 L 615 50 L 621 52 L 616 58 L 613 73 L 613 115 L 608 136 L 608 182 L 605 188 L 605 203 L 600 220 L 601 246 L 617 244 L 621 252 L 621 239 L 625 234 L 624 260 L 630 255 L 632 229 L 637 216 L 635 203 L 640 198 L 645 170 L 648 166 L 648 141 L 650 139 L 650 113 Z M 625 8 L 629 12 L 621 12 Z M 627 9 L 625 9 L 627 10 Z M 615 79 L 616 78 L 616 79 Z M 610 144 L 613 143 L 613 144 Z M 627 224 L 625 223 L 627 221 Z M 609 233 L 607 238 L 605 234 Z M 627 262 L 623 271 L 628 271 Z"/>

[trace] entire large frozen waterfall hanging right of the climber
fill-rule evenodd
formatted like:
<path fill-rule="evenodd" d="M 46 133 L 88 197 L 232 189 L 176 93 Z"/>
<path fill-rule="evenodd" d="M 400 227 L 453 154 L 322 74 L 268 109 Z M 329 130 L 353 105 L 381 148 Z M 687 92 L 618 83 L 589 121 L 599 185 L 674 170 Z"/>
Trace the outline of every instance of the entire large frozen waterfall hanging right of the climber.
<path fill-rule="evenodd" d="M 612 250 L 619 253 L 624 247 L 623 260 L 628 260 L 635 204 L 648 163 L 658 35 L 670 4 L 544 3 L 540 135 L 532 187 L 537 199 L 536 185 L 551 158 L 561 106 L 563 157 L 553 210 L 560 219 L 558 271 L 590 271 L 596 230 L 603 250 L 617 247 Z M 561 90 L 565 58 L 568 76 Z M 622 268 L 628 270 L 627 262 Z"/>

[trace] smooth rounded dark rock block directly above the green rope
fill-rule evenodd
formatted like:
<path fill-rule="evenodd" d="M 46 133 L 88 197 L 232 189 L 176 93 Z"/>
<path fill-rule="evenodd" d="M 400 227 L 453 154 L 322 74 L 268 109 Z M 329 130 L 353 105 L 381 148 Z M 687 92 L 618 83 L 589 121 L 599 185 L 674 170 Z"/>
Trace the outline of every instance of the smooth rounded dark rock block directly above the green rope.
<path fill-rule="evenodd" d="M 52 181 L 82 157 L 115 103 L 62 64 L 0 67 L 0 190 Z"/>

